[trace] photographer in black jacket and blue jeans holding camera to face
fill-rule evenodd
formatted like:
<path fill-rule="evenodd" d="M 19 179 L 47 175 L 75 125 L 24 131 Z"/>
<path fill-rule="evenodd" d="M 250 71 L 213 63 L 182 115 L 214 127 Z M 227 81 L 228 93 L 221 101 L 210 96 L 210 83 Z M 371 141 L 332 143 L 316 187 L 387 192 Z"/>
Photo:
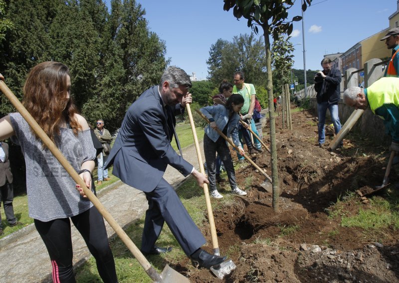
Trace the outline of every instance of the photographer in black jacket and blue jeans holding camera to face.
<path fill-rule="evenodd" d="M 330 110 L 335 134 L 337 135 L 341 130 L 340 118 L 338 116 L 338 101 L 340 100 L 341 96 L 340 84 L 342 75 L 340 70 L 333 69 L 332 65 L 333 64 L 329 58 L 324 58 L 321 61 L 323 71 L 319 71 L 315 75 L 317 113 L 319 116 L 319 123 L 317 127 L 319 132 L 319 146 L 321 147 L 325 142 L 324 124 L 326 121 L 327 109 Z"/>

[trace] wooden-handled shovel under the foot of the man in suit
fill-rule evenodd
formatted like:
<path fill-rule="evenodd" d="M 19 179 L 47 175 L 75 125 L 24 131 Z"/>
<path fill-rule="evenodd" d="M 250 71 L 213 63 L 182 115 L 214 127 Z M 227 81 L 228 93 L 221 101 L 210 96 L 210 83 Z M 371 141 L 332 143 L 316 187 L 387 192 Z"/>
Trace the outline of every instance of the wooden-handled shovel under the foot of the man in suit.
<path fill-rule="evenodd" d="M 194 125 L 194 119 L 193 119 L 193 114 L 191 113 L 190 104 L 186 104 L 186 108 L 187 108 L 187 113 L 189 114 L 191 130 L 193 131 L 194 143 L 197 149 L 198 162 L 200 163 L 200 172 L 205 175 L 205 169 L 203 168 L 202 156 L 200 151 L 200 143 L 198 142 L 196 126 Z M 216 226 L 215 226 L 215 221 L 213 219 L 212 207 L 210 204 L 208 185 L 205 183 L 203 184 L 203 194 L 205 195 L 206 210 L 208 212 L 210 236 L 212 238 L 212 245 L 213 245 L 213 254 L 216 256 L 220 256 L 219 244 L 217 242 Z M 235 269 L 236 266 L 233 263 L 233 261 L 226 260 L 218 266 L 211 267 L 210 271 L 217 278 L 223 279 L 226 275 L 230 274 Z"/>

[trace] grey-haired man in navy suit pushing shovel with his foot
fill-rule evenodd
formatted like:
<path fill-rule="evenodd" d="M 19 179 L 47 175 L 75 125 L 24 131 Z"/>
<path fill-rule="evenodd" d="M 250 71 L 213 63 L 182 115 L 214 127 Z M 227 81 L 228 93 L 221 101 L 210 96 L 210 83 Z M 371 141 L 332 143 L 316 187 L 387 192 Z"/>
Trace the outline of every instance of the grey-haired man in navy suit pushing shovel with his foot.
<path fill-rule="evenodd" d="M 183 206 L 173 187 L 163 178 L 168 164 L 184 176 L 192 174 L 198 184 L 208 183 L 206 177 L 176 153 L 171 146 L 175 135 L 175 115 L 192 103 L 190 77 L 178 67 L 169 67 L 158 86 L 145 91 L 128 109 L 118 137 L 108 156 L 106 167 L 124 183 L 142 190 L 149 208 L 146 212 L 141 251 L 160 254 L 172 248 L 155 245 L 166 222 L 183 251 L 194 265 L 210 268 L 225 257 L 208 254 L 200 229 Z M 177 140 L 178 146 L 179 142 Z"/>

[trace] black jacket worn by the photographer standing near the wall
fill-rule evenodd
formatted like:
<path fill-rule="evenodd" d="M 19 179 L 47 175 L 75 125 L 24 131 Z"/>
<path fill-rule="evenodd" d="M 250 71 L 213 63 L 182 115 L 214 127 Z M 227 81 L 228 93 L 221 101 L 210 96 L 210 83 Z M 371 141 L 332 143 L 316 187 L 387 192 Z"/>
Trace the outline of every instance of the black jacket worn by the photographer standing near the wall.
<path fill-rule="evenodd" d="M 317 92 L 317 103 L 328 101 L 330 104 L 336 104 L 341 98 L 342 75 L 340 70 L 331 69 L 327 77 L 322 79 L 316 76 L 315 90 Z"/>

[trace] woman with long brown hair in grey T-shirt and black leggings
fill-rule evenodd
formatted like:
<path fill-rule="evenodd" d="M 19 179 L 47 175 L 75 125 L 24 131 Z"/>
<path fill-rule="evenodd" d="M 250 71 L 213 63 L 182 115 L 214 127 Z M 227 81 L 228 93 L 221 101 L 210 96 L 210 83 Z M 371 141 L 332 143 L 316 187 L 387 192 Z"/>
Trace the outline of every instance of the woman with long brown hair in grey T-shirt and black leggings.
<path fill-rule="evenodd" d="M 30 70 L 22 103 L 90 188 L 96 151 L 86 120 L 77 114 L 70 88 L 67 66 L 43 62 Z M 25 158 L 29 216 L 50 256 L 53 282 L 75 282 L 70 220 L 94 256 L 103 282 L 117 282 L 104 220 L 84 197 L 83 189 L 19 113 L 0 120 L 0 140 L 9 137 L 21 146 Z"/>

